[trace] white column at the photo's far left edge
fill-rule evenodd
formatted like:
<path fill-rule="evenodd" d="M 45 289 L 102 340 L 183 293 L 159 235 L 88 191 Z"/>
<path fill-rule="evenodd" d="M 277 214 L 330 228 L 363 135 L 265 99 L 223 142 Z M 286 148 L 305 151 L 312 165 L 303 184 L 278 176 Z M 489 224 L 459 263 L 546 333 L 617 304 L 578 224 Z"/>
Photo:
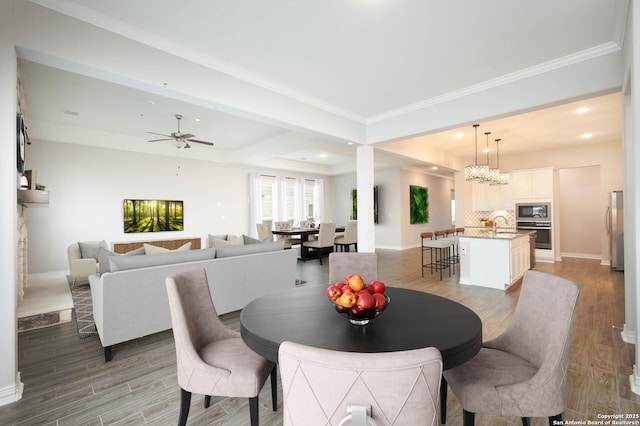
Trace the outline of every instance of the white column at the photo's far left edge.
<path fill-rule="evenodd" d="M 13 2 L 0 2 L 0 405 L 22 397 L 17 333 L 17 65 Z"/>

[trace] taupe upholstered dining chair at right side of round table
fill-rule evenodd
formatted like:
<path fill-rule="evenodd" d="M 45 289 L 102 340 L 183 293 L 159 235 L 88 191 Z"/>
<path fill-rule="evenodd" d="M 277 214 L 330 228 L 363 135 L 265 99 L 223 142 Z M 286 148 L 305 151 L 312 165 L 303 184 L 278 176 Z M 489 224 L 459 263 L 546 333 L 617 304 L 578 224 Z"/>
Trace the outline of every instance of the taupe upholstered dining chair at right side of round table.
<path fill-rule="evenodd" d="M 580 287 L 573 281 L 527 271 L 507 330 L 484 342 L 466 363 L 446 370 L 440 395 L 446 420 L 447 383 L 462 405 L 463 423 L 474 413 L 562 419 L 567 407 L 567 367 Z M 561 423 L 561 422 L 558 422 Z"/>

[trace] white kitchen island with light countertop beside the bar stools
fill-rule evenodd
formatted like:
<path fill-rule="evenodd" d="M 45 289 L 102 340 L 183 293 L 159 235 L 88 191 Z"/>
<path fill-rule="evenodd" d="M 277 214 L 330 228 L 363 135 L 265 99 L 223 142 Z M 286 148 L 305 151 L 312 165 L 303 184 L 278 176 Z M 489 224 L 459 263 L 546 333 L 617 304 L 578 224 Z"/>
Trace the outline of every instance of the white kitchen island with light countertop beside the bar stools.
<path fill-rule="evenodd" d="M 460 284 L 506 290 L 530 267 L 526 231 L 465 229 L 460 235 Z"/>

